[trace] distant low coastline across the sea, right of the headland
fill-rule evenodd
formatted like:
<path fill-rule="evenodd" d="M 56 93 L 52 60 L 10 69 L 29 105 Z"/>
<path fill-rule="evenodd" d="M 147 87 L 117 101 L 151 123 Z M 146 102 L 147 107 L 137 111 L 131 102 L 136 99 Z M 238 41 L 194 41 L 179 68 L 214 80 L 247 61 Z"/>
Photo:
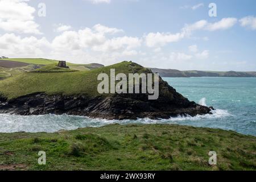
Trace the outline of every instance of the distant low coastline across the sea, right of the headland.
<path fill-rule="evenodd" d="M 150 68 L 161 77 L 256 77 L 256 72 L 214 72 L 214 71 L 179 71 L 177 69 Z"/>

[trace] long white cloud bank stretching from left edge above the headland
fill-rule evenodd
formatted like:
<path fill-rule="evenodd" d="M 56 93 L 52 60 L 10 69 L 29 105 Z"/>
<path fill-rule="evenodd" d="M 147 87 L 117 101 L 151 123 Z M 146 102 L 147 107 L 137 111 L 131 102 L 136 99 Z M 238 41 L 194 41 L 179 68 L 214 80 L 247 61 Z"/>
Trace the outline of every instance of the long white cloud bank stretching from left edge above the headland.
<path fill-rule="evenodd" d="M 200 20 L 185 24 L 176 34 L 151 32 L 142 37 L 119 35 L 118 33 L 124 32 L 122 29 L 101 24 L 77 31 L 71 31 L 67 26 L 67 29 L 59 30 L 59 35 L 53 38 L 52 42 L 48 42 L 46 38 L 22 38 L 15 34 L 5 34 L 0 36 L 0 52 L 5 52 L 9 57 L 48 57 L 74 63 L 96 62 L 109 65 L 121 60 L 134 60 L 148 66 L 163 65 L 159 63 L 161 61 L 166 64 L 190 65 L 194 63 L 188 60 L 207 59 L 209 51 L 199 51 L 194 44 L 188 47 L 187 53 L 177 51 L 170 54 L 166 49 L 162 49 L 162 46 L 189 38 L 194 31 L 208 30 L 209 25 L 206 20 Z M 57 28 L 61 26 L 65 25 L 59 24 Z M 144 47 L 141 47 L 142 45 Z"/>

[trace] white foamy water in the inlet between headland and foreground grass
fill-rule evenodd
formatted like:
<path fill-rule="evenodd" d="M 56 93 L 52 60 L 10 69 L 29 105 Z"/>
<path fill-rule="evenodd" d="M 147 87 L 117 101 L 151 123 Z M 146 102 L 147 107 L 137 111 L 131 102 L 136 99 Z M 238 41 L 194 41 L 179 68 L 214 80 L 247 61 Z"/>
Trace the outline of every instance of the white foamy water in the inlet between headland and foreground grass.
<path fill-rule="evenodd" d="M 48 132 L 53 133 L 59 130 L 75 130 L 80 127 L 100 127 L 119 123 L 126 125 L 130 123 L 143 123 L 143 124 L 172 124 L 183 121 L 200 121 L 202 119 L 214 119 L 227 117 L 230 114 L 226 110 L 216 109 L 212 111 L 213 114 L 197 115 L 195 117 L 179 116 L 170 119 L 149 119 L 138 118 L 135 120 L 107 120 L 107 119 L 93 119 L 75 115 L 10 115 L 0 114 L 0 133 L 14 133 L 19 131 L 26 131 L 31 133 Z"/>

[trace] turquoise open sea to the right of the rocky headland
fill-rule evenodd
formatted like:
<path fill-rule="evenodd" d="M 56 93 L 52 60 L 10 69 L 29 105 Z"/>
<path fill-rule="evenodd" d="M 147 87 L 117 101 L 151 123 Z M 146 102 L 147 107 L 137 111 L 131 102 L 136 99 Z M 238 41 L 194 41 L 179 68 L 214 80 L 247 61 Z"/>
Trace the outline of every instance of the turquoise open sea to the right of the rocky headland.
<path fill-rule="evenodd" d="M 164 78 L 189 100 L 213 106 L 219 117 L 188 119 L 183 125 L 256 135 L 256 78 Z M 205 103 L 204 103 L 205 102 Z"/>

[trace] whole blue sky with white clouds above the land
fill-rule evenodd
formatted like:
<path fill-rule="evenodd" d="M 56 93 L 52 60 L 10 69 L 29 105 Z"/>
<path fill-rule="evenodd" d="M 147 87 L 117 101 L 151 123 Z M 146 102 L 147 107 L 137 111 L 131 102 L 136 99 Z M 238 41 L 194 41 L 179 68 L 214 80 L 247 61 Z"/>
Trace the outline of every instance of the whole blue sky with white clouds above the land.
<path fill-rule="evenodd" d="M 0 0 L 0 56 L 256 71 L 256 1 Z"/>

